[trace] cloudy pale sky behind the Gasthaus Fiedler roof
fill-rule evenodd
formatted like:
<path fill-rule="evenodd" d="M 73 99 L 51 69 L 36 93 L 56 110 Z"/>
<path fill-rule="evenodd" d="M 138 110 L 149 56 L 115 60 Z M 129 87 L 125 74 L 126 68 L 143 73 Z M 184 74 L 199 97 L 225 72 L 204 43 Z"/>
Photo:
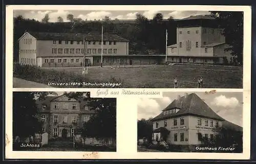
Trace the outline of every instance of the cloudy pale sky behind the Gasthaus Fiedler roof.
<path fill-rule="evenodd" d="M 187 92 L 190 94 L 189 92 Z M 243 93 L 242 92 L 194 92 L 219 116 L 225 120 L 243 126 Z M 163 98 L 140 98 L 138 101 L 138 119 L 154 118 L 177 99 L 182 92 L 164 92 Z"/>

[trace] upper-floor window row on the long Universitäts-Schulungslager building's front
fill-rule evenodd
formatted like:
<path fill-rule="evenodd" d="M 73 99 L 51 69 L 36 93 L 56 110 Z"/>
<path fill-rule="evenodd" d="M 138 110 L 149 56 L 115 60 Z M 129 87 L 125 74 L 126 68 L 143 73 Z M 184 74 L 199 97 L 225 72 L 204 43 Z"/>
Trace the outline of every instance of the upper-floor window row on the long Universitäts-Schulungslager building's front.
<path fill-rule="evenodd" d="M 88 48 L 87 53 L 96 53 L 97 49 L 96 48 Z M 63 53 L 62 48 L 52 48 L 52 53 Z M 74 48 L 64 48 L 64 53 L 74 53 L 75 49 Z M 109 53 L 117 53 L 117 49 L 109 49 Z M 84 48 L 76 48 L 76 53 L 84 53 Z M 101 49 L 98 49 L 98 53 L 101 53 Z M 106 48 L 103 49 L 103 53 L 106 53 Z"/>

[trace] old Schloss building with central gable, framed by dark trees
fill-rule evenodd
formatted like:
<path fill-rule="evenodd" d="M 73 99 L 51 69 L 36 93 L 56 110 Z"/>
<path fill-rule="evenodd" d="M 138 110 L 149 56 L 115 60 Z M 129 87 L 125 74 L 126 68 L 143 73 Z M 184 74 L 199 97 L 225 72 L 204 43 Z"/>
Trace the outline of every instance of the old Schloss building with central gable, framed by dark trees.
<path fill-rule="evenodd" d="M 42 132 L 49 134 L 49 139 L 70 138 L 82 128 L 83 123 L 95 115 L 89 101 L 76 100 L 61 96 L 48 96 L 45 100 L 36 100 L 38 117 L 42 122 Z"/>

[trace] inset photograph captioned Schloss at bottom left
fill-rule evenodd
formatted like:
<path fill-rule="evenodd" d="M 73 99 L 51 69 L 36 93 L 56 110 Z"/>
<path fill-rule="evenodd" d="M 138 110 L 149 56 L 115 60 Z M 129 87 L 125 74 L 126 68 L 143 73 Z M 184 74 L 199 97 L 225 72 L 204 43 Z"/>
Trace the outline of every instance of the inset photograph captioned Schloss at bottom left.
<path fill-rule="evenodd" d="M 13 92 L 13 151 L 116 152 L 116 98 Z"/>

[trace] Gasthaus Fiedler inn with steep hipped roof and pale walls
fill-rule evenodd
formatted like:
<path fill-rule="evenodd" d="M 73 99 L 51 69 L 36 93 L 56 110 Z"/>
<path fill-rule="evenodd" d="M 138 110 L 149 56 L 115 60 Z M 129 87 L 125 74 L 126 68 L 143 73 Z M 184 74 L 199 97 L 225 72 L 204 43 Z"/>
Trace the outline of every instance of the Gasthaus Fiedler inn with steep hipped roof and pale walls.
<path fill-rule="evenodd" d="M 167 129 L 166 143 L 174 145 L 200 145 L 202 136 L 214 139 L 216 127 L 225 122 L 195 93 L 179 96 L 152 121 L 153 141 L 161 141 L 161 130 Z"/>

